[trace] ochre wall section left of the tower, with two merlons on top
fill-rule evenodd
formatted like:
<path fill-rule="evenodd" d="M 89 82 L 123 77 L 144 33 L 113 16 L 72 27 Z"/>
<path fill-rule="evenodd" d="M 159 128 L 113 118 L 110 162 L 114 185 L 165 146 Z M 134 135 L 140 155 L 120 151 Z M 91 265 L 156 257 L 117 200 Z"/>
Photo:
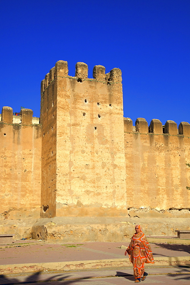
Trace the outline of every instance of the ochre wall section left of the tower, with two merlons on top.
<path fill-rule="evenodd" d="M 32 110 L 22 109 L 21 124 L 3 107 L 0 122 L 0 219 L 38 218 L 41 188 L 41 126 Z"/>

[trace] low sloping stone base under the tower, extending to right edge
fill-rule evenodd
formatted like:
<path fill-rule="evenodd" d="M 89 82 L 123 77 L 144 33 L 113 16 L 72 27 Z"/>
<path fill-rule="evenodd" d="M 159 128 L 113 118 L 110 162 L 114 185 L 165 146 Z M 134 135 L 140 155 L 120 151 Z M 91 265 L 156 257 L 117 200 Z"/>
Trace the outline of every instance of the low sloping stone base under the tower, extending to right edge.
<path fill-rule="evenodd" d="M 144 234 L 175 236 L 175 230 L 189 230 L 190 218 L 54 217 L 38 219 L 32 238 L 49 242 L 128 242 L 141 224 Z"/>

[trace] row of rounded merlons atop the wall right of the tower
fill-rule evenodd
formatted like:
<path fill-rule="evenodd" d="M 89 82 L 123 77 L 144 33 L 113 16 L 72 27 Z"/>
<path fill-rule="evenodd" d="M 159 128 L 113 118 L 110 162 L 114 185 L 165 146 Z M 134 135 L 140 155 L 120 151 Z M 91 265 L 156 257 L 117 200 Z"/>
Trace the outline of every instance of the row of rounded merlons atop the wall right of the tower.
<path fill-rule="evenodd" d="M 172 135 L 190 137 L 190 124 L 181 122 L 177 128 L 174 121 L 168 120 L 165 125 L 158 119 L 152 119 L 148 127 L 148 123 L 144 118 L 137 118 L 135 126 L 130 118 L 124 118 L 124 133 L 139 134 L 155 134 L 155 135 Z"/>

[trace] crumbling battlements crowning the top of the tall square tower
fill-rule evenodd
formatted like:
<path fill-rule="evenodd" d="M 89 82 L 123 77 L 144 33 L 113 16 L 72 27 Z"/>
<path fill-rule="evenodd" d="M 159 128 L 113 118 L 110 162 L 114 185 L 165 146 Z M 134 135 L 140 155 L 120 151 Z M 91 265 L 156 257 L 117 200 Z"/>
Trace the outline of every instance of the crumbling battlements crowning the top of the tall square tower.
<path fill-rule="evenodd" d="M 109 73 L 105 73 L 106 68 L 102 65 L 95 65 L 93 68 L 93 78 L 88 78 L 88 65 L 84 62 L 77 62 L 75 66 L 75 76 L 69 76 L 68 63 L 64 60 L 56 62 L 55 66 L 50 69 L 45 78 L 41 82 L 41 93 L 58 78 L 70 78 L 83 82 L 84 80 L 98 81 L 111 85 L 113 83 L 121 83 L 121 70 L 113 68 Z"/>

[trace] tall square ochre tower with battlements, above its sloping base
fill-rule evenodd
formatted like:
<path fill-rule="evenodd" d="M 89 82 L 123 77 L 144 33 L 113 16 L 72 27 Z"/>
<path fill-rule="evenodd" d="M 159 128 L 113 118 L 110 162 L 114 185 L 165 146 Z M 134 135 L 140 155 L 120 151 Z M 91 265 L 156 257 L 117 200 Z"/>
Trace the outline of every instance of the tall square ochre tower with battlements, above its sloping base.
<path fill-rule="evenodd" d="M 51 133 L 51 144 L 42 139 L 42 180 L 50 182 L 49 189 L 42 184 L 42 217 L 55 215 L 55 202 L 57 216 L 127 215 L 121 71 L 95 66 L 93 74 L 88 79 L 88 66 L 77 63 L 68 77 L 67 62 L 59 61 L 42 82 L 42 133 Z"/>

